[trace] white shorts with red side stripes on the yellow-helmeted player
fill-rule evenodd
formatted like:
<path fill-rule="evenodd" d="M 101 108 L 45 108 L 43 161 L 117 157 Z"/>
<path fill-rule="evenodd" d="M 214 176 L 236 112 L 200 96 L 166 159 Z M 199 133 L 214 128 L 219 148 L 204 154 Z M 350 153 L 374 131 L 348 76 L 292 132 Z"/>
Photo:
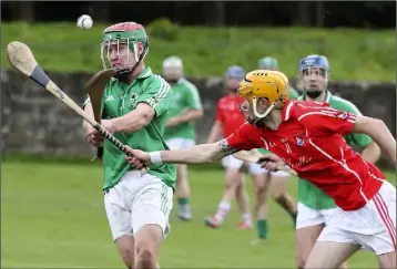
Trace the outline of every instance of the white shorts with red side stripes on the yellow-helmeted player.
<path fill-rule="evenodd" d="M 376 255 L 396 251 L 396 188 L 385 182 L 363 208 L 337 208 L 318 240 L 360 245 Z"/>

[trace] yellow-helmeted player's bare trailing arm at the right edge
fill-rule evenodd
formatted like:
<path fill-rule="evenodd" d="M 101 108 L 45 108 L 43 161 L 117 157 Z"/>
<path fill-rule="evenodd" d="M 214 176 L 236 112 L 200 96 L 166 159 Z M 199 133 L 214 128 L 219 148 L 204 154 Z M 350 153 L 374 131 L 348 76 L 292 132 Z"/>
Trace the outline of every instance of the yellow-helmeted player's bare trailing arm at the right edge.
<path fill-rule="evenodd" d="M 396 139 L 393 137 L 393 134 L 384 121 L 367 116 L 357 116 L 352 132 L 369 135 L 393 161 L 393 164 L 396 165 Z"/>

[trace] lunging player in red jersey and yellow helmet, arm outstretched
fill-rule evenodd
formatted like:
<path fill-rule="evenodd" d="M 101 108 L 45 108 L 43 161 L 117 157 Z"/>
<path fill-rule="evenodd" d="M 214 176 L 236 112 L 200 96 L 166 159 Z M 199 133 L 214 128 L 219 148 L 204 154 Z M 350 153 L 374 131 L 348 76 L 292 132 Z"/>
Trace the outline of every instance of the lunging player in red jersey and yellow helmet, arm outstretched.
<path fill-rule="evenodd" d="M 317 239 L 305 268 L 337 268 L 362 247 L 379 268 L 396 268 L 396 188 L 383 173 L 344 141 L 367 134 L 396 165 L 396 141 L 380 120 L 337 111 L 327 103 L 288 101 L 288 80 L 277 71 L 256 70 L 240 83 L 247 123 L 226 139 L 183 151 L 129 148 L 129 163 L 210 163 L 237 151 L 264 147 L 267 169 L 291 166 L 330 196 L 337 210 Z"/>

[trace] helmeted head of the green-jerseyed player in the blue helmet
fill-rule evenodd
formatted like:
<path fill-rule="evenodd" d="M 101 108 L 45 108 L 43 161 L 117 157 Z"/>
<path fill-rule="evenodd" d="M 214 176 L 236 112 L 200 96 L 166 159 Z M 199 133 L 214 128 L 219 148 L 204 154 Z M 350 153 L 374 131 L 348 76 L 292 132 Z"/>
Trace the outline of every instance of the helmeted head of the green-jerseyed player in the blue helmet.
<path fill-rule="evenodd" d="M 311 99 L 318 97 L 328 84 L 329 63 L 323 55 L 308 55 L 299 61 L 299 80 Z"/>

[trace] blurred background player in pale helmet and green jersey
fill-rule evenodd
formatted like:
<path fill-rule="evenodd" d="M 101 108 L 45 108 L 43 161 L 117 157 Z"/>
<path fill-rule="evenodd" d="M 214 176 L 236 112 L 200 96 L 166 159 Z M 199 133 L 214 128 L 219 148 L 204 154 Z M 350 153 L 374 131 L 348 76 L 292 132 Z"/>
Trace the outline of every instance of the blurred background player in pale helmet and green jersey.
<path fill-rule="evenodd" d="M 194 121 L 203 116 L 203 106 L 195 85 L 183 77 L 183 63 L 177 56 L 163 62 L 163 76 L 172 87 L 172 102 L 164 138 L 171 149 L 182 149 L 195 145 Z M 176 165 L 176 190 L 179 213 L 182 220 L 192 218 L 187 166 Z"/>

